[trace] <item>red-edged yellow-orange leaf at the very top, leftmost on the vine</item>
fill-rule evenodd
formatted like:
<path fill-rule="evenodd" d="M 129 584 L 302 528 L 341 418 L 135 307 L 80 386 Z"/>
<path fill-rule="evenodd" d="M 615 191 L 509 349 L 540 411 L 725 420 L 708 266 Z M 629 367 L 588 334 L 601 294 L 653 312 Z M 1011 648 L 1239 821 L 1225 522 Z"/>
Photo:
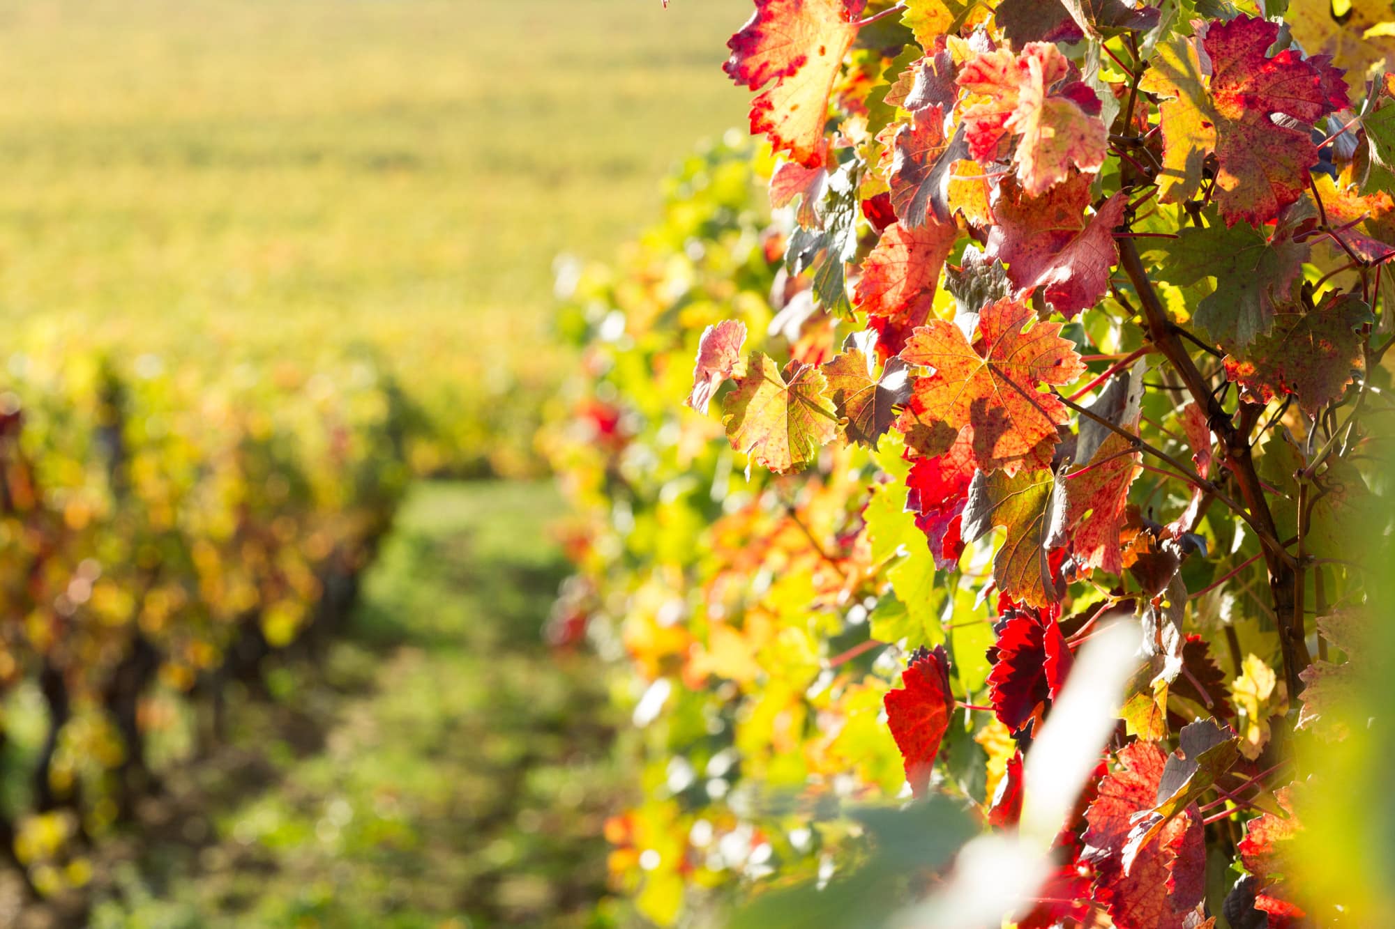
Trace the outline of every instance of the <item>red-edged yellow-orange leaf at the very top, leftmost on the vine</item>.
<path fill-rule="evenodd" d="M 751 134 L 805 167 L 822 167 L 829 142 L 829 95 L 843 56 L 858 35 L 865 0 L 756 0 L 756 11 L 731 36 L 723 70 L 760 91 L 751 105 Z"/>

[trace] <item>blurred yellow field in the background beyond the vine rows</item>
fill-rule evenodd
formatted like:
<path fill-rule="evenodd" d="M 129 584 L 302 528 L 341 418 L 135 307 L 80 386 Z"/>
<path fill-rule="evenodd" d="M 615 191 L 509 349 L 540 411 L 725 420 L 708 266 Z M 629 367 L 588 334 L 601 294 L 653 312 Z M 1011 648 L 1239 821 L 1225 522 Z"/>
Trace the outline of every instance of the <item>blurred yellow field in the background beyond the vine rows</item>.
<path fill-rule="evenodd" d="M 565 365 L 554 258 L 611 252 L 741 123 L 748 6 L 6 0 L 4 353 L 374 345 L 465 464 L 518 462 Z"/>

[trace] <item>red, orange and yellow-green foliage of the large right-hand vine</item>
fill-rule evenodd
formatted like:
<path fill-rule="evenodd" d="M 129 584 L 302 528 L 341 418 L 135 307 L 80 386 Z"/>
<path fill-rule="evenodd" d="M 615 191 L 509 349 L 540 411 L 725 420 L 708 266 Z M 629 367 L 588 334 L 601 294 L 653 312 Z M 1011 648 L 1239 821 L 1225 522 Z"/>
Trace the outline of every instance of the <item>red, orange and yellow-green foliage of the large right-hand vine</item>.
<path fill-rule="evenodd" d="M 826 882 L 875 831 L 840 805 L 903 784 L 1010 827 L 1074 651 L 1133 617 L 1117 731 L 1014 919 L 1336 918 L 1286 843 L 1384 490 L 1392 22 L 756 1 L 727 74 L 776 215 L 739 152 L 686 166 L 583 280 L 591 382 L 548 437 L 585 513 L 565 605 L 635 681 L 653 799 L 612 865 L 646 915 Z"/>

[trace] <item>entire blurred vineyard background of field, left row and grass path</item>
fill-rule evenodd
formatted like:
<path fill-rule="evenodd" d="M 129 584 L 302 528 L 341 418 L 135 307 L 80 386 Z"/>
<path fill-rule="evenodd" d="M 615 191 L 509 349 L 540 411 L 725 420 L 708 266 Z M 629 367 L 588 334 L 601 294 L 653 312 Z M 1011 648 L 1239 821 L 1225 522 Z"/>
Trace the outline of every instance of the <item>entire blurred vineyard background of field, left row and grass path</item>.
<path fill-rule="evenodd" d="M 477 6 L 0 4 L 0 923 L 608 896 L 612 711 L 525 483 L 554 262 L 739 100 L 720 10 Z M 491 89 L 525 45 L 573 80 Z"/>

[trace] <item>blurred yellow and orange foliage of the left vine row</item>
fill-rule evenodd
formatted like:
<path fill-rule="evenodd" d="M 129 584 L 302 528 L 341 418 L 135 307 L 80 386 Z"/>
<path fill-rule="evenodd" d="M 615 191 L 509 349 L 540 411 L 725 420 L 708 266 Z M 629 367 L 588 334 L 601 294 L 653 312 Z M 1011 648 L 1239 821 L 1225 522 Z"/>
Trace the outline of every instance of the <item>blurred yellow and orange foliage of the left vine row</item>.
<path fill-rule="evenodd" d="M 209 377 L 13 356 L 0 395 L 0 855 L 40 894 L 158 784 L 149 734 L 333 632 L 405 490 L 413 414 L 370 357 Z M 40 700 L 32 718 L 20 707 Z M 42 745 L 25 732 L 38 727 Z"/>

